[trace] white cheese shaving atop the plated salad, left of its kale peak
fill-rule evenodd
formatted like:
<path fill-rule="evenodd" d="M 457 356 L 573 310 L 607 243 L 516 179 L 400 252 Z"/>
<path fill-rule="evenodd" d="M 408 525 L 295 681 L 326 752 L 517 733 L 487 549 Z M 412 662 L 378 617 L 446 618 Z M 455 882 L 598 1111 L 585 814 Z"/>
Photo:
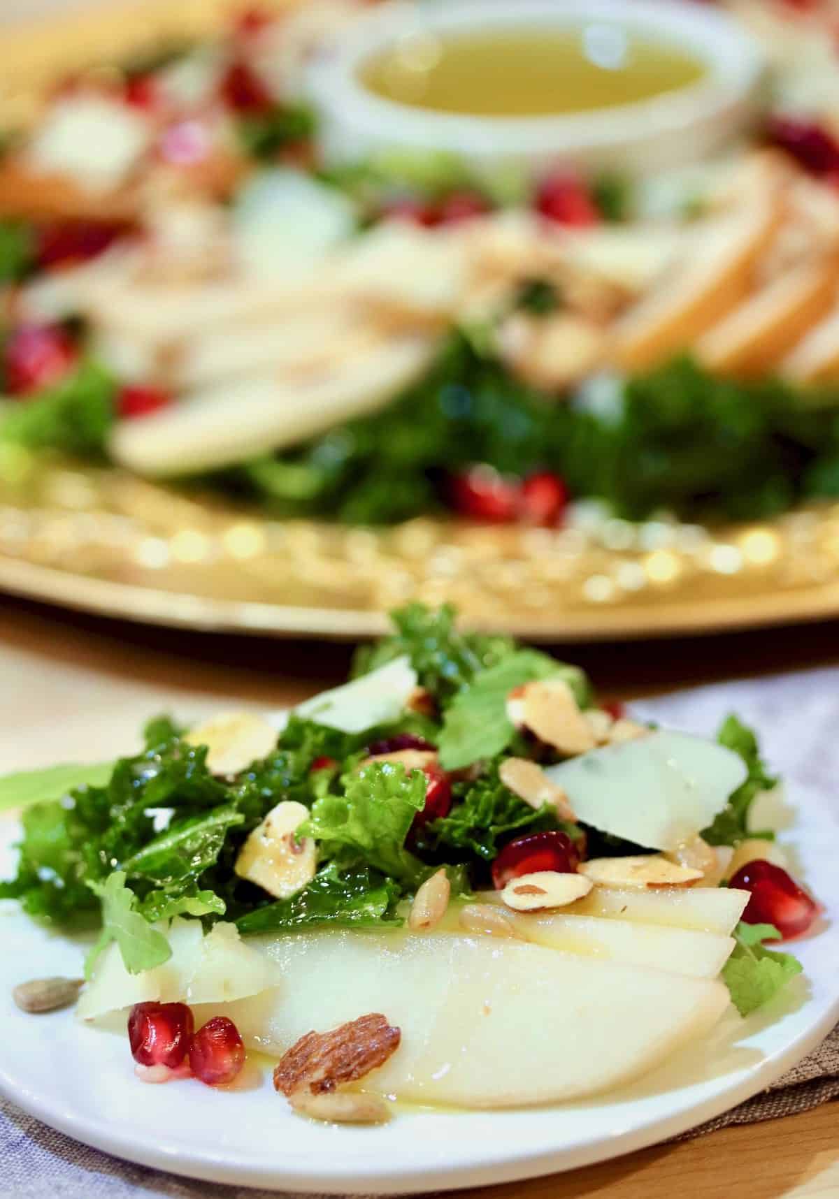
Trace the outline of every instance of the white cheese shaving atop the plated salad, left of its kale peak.
<path fill-rule="evenodd" d="M 397 719 L 415 686 L 416 671 L 404 656 L 342 687 L 313 695 L 298 704 L 294 712 L 342 733 L 364 733 L 374 724 Z"/>

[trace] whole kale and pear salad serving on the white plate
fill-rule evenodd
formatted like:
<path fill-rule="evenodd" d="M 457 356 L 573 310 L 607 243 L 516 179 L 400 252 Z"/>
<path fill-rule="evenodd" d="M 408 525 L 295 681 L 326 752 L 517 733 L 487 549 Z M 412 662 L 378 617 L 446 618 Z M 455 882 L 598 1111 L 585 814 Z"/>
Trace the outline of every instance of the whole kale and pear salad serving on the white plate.
<path fill-rule="evenodd" d="M 819 905 L 750 825 L 777 781 L 736 716 L 667 731 L 449 608 L 394 623 L 288 715 L 158 717 L 136 757 L 0 782 L 0 896 L 98 929 L 18 1007 L 127 1026 L 144 1083 L 259 1052 L 301 1116 L 380 1122 L 613 1091 L 799 974 L 773 942 Z"/>

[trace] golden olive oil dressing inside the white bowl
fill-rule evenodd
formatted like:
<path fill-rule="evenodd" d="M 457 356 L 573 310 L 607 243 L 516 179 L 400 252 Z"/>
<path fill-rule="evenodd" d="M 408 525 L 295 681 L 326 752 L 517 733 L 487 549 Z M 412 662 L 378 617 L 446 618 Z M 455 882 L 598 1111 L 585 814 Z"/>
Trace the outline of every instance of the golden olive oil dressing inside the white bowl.
<path fill-rule="evenodd" d="M 366 59 L 376 96 L 469 116 L 562 116 L 652 100 L 701 82 L 688 49 L 617 24 L 406 35 Z"/>

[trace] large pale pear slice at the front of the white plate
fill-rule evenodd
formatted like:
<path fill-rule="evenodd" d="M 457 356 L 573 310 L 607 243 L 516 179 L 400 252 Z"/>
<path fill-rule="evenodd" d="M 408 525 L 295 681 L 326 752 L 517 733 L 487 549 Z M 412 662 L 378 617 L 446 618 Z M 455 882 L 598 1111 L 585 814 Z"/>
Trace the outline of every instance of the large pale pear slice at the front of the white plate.
<path fill-rule="evenodd" d="M 280 1055 L 311 1029 L 383 1012 L 402 1041 L 364 1087 L 425 1103 L 594 1095 L 703 1037 L 729 1004 L 720 982 L 489 936 L 323 932 L 251 944 L 283 983 L 224 1008 L 248 1046 Z"/>

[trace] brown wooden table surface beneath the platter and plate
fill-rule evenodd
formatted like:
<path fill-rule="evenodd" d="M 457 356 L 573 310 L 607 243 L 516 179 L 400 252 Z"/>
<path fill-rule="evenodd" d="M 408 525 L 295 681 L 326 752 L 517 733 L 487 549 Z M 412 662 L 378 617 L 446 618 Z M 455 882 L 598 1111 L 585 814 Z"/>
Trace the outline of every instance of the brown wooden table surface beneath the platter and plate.
<path fill-rule="evenodd" d="M 0 600 L 0 649 L 26 655 L 25 694 L 5 697 L 40 723 L 61 718 L 49 685 L 62 667 L 167 698 L 293 704 L 342 680 L 346 645 L 144 628 Z M 561 649 L 604 695 L 627 698 L 742 675 L 839 663 L 839 623 Z M 66 695 L 64 697 L 66 703 Z M 8 711 L 10 709 L 7 709 Z M 558 1116 L 557 1119 L 562 1119 Z M 839 1105 L 658 1146 L 573 1174 L 468 1192 L 475 1199 L 838 1199 Z"/>

